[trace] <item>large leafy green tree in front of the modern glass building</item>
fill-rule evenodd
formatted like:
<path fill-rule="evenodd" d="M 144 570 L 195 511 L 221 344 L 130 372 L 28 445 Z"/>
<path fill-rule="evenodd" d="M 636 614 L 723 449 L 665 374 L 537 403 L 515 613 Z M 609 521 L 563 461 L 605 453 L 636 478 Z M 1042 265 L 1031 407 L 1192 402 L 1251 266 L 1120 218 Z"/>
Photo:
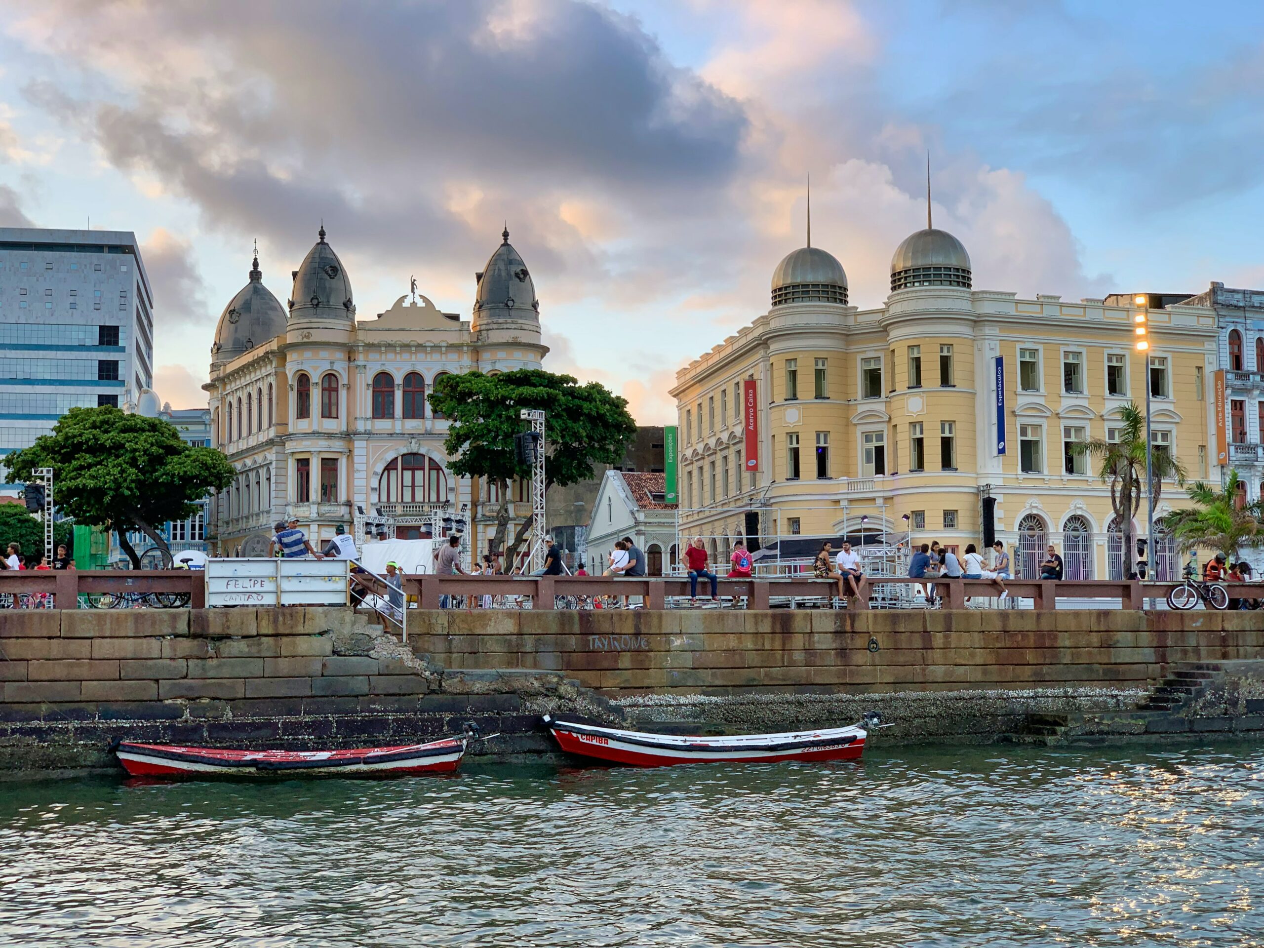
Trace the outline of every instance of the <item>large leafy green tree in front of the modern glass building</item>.
<path fill-rule="evenodd" d="M 35 468 L 53 469 L 57 507 L 76 522 L 107 527 L 140 569 L 126 532 L 139 530 L 171 556 L 161 527 L 193 516 L 196 501 L 222 490 L 233 465 L 212 447 L 190 447 L 162 418 L 125 415 L 109 406 L 71 408 L 53 434 L 4 459 L 11 480 L 33 479 Z"/>

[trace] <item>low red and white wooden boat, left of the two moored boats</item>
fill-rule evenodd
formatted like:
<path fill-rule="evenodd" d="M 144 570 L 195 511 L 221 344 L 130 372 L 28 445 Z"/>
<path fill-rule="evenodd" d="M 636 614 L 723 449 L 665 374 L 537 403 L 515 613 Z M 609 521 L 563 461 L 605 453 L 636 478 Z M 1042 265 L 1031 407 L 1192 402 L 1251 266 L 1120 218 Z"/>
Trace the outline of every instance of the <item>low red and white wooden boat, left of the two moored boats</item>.
<path fill-rule="evenodd" d="M 350 751 L 243 751 L 123 741 L 115 753 L 134 777 L 392 777 L 449 774 L 460 766 L 468 742 L 463 734 Z"/>

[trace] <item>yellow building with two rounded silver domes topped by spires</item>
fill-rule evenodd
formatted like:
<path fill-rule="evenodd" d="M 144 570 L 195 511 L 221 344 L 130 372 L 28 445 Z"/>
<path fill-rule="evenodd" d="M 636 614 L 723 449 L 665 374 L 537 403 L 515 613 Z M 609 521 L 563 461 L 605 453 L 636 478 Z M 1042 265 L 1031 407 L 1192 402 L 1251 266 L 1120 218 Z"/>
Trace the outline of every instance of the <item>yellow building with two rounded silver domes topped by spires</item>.
<path fill-rule="evenodd" d="M 1068 579 L 1117 575 L 1110 488 L 1069 446 L 1112 437 L 1129 401 L 1144 407 L 1135 310 L 975 289 L 966 248 L 929 226 L 896 249 L 880 308 L 849 306 L 843 267 L 810 245 L 777 265 L 771 303 L 678 373 L 683 537 L 723 551 L 757 514 L 766 545 L 911 533 L 982 549 L 990 513 L 1016 575 L 1038 570 L 1048 542 Z M 1148 317 L 1154 449 L 1203 478 L 1216 313 L 1182 303 Z M 1164 484 L 1155 517 L 1184 502 Z M 1158 566 L 1174 568 L 1162 536 Z"/>

